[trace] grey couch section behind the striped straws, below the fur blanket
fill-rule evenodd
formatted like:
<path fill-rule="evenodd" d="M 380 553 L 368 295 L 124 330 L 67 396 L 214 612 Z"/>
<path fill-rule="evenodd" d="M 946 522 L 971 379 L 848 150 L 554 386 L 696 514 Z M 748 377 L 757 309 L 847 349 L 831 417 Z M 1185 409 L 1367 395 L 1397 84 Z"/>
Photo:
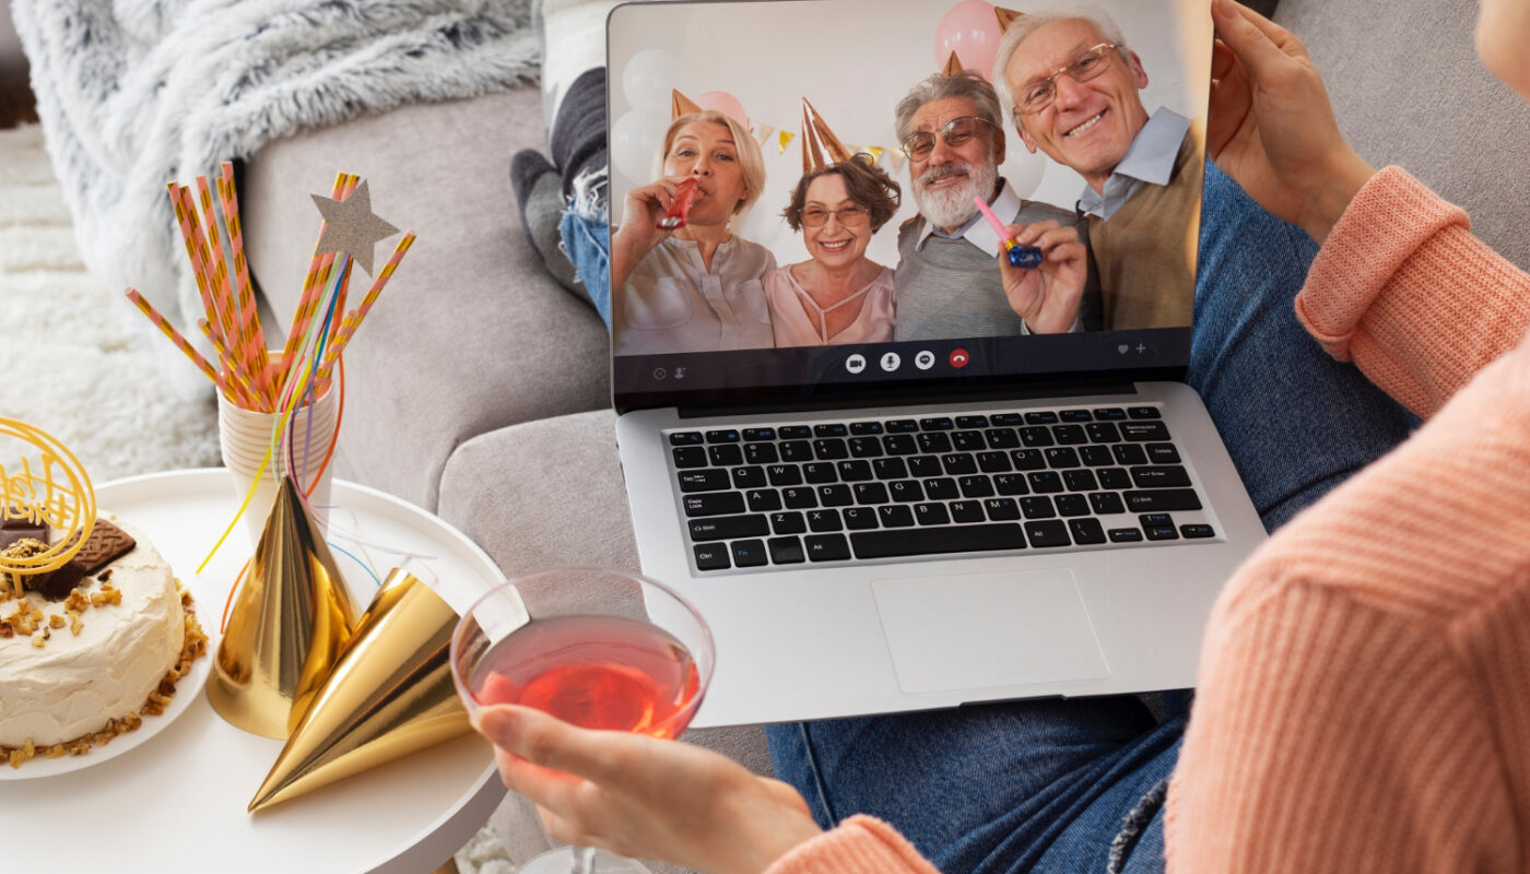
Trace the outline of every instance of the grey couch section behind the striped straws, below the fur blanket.
<path fill-rule="evenodd" d="M 249 162 L 246 248 L 283 328 L 318 231 L 309 194 L 329 196 L 337 171 L 367 179 L 376 214 L 419 236 L 346 351 L 340 476 L 433 510 L 457 444 L 610 403 L 604 326 L 542 268 L 509 188 L 511 155 L 543 147 L 532 87 L 347 121 Z M 369 285 L 356 269 L 350 300 Z"/>

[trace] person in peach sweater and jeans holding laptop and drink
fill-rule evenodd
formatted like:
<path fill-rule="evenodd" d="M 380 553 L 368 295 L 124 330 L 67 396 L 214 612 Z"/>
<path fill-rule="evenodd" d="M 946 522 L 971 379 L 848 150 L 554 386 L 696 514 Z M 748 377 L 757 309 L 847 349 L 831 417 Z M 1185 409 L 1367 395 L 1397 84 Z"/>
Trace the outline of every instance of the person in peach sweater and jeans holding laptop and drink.
<path fill-rule="evenodd" d="M 849 721 L 838 747 L 777 758 L 793 788 L 485 709 L 506 785 L 555 837 L 718 872 L 1522 869 L 1530 277 L 1348 147 L 1299 40 L 1232 0 L 1213 20 L 1212 158 L 1322 242 L 1296 298 L 1311 335 L 1429 421 L 1229 583 L 1183 755 L 1183 716 L 1021 701 Z M 1483 3 L 1480 54 L 1530 101 L 1525 40 L 1530 6 Z"/>

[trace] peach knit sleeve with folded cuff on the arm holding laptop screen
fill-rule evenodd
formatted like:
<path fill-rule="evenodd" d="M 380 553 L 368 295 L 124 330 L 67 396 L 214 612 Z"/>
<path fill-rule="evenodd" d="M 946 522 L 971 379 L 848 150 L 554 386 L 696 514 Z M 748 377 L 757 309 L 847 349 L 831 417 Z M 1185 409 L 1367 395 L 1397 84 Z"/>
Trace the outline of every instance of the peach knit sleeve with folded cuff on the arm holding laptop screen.
<path fill-rule="evenodd" d="M 1434 415 L 1530 328 L 1530 277 L 1405 170 L 1371 178 L 1317 253 L 1296 314 L 1330 355 Z"/>

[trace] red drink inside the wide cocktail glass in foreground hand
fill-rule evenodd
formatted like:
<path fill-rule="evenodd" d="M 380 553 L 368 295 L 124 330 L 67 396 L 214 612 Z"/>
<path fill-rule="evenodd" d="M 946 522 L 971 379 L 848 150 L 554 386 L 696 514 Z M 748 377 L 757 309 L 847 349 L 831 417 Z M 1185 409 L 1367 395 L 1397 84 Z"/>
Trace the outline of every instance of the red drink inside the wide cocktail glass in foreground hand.
<path fill-rule="evenodd" d="M 534 707 L 581 729 L 673 738 L 701 704 L 696 661 L 675 637 L 614 615 L 540 618 L 473 672 L 479 706 Z"/>

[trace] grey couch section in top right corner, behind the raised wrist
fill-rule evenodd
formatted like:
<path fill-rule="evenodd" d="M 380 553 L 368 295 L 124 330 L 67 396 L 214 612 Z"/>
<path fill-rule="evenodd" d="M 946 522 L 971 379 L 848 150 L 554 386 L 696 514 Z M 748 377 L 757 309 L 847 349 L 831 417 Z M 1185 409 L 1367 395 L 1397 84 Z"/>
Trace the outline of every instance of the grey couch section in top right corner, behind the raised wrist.
<path fill-rule="evenodd" d="M 1398 164 L 1472 216 L 1487 245 L 1530 269 L 1530 112 L 1476 58 L 1476 3 L 1281 0 L 1349 144 Z"/>

